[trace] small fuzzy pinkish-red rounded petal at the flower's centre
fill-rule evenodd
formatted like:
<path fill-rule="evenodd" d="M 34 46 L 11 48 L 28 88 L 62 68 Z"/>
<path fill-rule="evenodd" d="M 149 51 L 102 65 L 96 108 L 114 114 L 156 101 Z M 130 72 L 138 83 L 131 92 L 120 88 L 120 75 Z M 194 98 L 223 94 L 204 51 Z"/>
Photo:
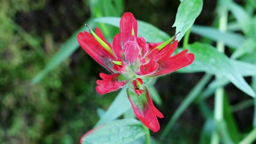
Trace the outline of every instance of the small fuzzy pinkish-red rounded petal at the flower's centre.
<path fill-rule="evenodd" d="M 140 48 L 137 43 L 129 41 L 124 45 L 125 60 L 132 65 L 139 57 Z"/>

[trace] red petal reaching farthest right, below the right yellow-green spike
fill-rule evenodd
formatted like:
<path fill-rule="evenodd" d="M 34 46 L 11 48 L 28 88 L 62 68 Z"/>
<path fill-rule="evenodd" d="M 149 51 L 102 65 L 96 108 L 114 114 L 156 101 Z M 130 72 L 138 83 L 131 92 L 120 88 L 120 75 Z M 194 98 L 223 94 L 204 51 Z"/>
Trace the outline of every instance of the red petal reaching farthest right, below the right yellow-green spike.
<path fill-rule="evenodd" d="M 190 65 L 195 56 L 193 53 L 187 53 L 188 50 L 184 50 L 169 59 L 163 59 L 159 61 L 159 67 L 156 73 L 152 74 L 151 76 L 161 76 L 172 73 L 175 70 L 180 68 L 186 67 Z"/>

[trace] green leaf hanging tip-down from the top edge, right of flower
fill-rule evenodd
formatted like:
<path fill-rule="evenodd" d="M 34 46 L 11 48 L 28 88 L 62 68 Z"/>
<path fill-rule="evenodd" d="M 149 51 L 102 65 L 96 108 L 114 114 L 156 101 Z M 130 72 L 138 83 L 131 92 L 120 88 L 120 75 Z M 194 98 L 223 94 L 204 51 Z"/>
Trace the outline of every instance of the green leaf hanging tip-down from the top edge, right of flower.
<path fill-rule="evenodd" d="M 184 0 L 180 3 L 175 22 L 172 27 L 176 27 L 178 41 L 185 35 L 186 31 L 193 25 L 203 8 L 202 0 Z"/>

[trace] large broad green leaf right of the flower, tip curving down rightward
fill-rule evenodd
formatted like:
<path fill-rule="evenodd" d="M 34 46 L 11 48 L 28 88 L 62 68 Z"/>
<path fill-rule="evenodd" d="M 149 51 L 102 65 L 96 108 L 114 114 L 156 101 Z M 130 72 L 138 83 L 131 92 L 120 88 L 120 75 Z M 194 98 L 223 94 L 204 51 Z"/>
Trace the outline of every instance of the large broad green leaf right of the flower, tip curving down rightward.
<path fill-rule="evenodd" d="M 209 74 L 225 76 L 238 89 L 255 97 L 252 88 L 245 82 L 242 75 L 225 54 L 218 52 L 211 45 L 202 43 L 191 44 L 188 46 L 188 50 L 195 54 L 195 61 L 180 71 L 204 71 Z"/>

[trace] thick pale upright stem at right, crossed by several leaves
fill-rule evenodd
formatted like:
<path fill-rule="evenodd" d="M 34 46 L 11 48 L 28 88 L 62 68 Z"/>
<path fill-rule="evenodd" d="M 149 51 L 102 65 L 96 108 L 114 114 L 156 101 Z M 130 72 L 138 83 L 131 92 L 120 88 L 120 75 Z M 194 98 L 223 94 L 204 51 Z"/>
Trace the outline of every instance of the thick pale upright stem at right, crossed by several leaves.
<path fill-rule="evenodd" d="M 228 19 L 228 11 L 225 6 L 219 5 L 219 30 L 221 32 L 227 30 L 227 19 Z M 222 42 L 217 42 L 217 50 L 221 53 L 225 52 L 225 45 Z M 216 75 L 216 78 L 221 78 L 219 75 Z M 223 94 L 224 90 L 223 87 L 219 87 L 215 91 L 215 98 L 214 98 L 214 120 L 215 124 L 218 124 L 223 120 Z M 213 131 L 212 137 L 211 137 L 211 144 L 218 144 L 220 143 L 220 137 L 218 134 L 218 129 Z"/>

